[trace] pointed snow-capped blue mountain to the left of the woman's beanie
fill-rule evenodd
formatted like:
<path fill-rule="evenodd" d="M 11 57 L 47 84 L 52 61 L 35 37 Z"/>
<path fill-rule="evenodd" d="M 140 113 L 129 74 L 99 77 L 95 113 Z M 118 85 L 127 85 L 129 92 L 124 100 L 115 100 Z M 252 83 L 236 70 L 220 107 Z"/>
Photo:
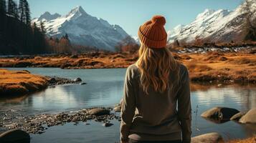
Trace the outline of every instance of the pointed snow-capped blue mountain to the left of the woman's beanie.
<path fill-rule="evenodd" d="M 93 46 L 113 51 L 118 42 L 129 36 L 120 26 L 111 25 L 104 19 L 87 14 L 81 6 L 75 7 L 67 15 L 46 12 L 32 23 L 44 22 L 48 36 L 58 37 L 68 34 L 72 44 Z"/>

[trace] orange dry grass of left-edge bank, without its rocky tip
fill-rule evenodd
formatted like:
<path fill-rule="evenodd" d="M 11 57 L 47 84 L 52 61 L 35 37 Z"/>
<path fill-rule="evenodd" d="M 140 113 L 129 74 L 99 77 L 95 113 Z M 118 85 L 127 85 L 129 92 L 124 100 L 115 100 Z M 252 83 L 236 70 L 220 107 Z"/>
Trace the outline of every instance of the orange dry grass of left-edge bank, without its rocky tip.
<path fill-rule="evenodd" d="M 29 71 L 0 69 L 0 95 L 21 95 L 47 87 L 47 79 L 30 74 Z"/>

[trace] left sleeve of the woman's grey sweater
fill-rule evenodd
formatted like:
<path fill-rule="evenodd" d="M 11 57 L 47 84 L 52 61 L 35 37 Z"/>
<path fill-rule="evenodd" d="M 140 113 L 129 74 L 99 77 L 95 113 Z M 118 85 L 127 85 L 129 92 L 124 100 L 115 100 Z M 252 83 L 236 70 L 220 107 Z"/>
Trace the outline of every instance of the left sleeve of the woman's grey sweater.
<path fill-rule="evenodd" d="M 128 68 L 125 75 L 123 102 L 121 104 L 120 112 L 120 140 L 123 142 L 128 142 L 129 129 L 133 122 L 134 112 L 136 109 L 133 76 L 134 73 L 130 68 Z"/>

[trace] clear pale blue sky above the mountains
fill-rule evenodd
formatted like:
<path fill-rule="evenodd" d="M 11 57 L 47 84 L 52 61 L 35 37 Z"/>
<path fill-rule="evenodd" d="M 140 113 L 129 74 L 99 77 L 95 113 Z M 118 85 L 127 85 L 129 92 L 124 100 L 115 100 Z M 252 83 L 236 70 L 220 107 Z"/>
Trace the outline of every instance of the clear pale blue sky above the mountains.
<path fill-rule="evenodd" d="M 128 34 L 137 36 L 138 27 L 151 16 L 166 17 L 166 30 L 178 24 L 189 24 L 204 9 L 233 10 L 243 0 L 28 0 L 32 18 L 45 11 L 67 14 L 82 6 L 92 16 L 120 25 Z"/>

